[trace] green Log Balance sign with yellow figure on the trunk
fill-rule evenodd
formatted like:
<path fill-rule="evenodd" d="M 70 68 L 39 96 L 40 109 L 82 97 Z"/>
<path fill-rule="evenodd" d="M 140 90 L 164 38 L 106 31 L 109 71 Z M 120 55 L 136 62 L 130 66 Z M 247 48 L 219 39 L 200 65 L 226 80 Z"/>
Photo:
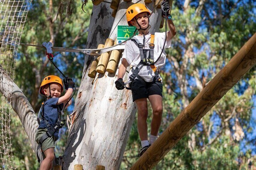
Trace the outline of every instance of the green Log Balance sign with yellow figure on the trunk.
<path fill-rule="evenodd" d="M 136 29 L 135 26 L 118 25 L 117 26 L 117 44 L 120 44 L 121 42 L 133 36 L 133 32 L 135 31 L 135 29 Z"/>

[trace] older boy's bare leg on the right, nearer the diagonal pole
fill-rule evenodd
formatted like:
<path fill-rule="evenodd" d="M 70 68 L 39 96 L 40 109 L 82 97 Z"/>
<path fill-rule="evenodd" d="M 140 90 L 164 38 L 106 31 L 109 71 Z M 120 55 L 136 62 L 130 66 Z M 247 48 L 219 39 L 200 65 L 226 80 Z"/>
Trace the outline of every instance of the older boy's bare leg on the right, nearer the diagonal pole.
<path fill-rule="evenodd" d="M 153 118 L 151 121 L 150 134 L 157 136 L 162 121 L 163 113 L 163 98 L 160 95 L 154 94 L 149 96 L 149 102 L 153 110 Z"/>

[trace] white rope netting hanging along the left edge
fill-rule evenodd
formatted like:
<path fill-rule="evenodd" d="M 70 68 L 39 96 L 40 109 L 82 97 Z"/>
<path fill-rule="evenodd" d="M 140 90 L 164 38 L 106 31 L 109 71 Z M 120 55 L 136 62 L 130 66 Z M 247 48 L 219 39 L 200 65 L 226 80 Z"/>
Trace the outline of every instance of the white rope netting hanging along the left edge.
<path fill-rule="evenodd" d="M 18 45 L 31 2 L 32 0 L 0 0 L 0 64 L 12 80 Z M 3 94 L 11 95 L 13 85 L 6 86 L 9 88 L 5 88 Z M 0 168 L 16 169 L 10 136 L 11 96 L 2 95 L 0 104 Z"/>

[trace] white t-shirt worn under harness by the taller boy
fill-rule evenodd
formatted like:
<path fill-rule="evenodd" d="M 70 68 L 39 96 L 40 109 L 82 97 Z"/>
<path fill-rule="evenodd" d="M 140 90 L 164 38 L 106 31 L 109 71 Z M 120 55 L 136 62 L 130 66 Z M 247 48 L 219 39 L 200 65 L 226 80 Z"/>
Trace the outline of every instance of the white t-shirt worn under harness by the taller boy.
<path fill-rule="evenodd" d="M 143 44 L 143 36 L 134 36 L 133 38 L 139 40 L 139 42 L 141 44 Z M 145 35 L 145 48 L 144 49 L 150 49 L 149 48 L 150 38 L 151 38 L 150 33 Z M 165 32 L 155 32 L 154 61 L 156 61 L 157 58 L 159 57 L 159 55 L 162 51 L 163 45 L 164 45 L 164 41 L 165 41 Z M 170 48 L 170 47 L 171 47 L 171 39 L 169 41 L 166 41 L 166 43 L 165 43 L 165 48 Z M 127 60 L 127 62 L 131 66 L 133 66 L 133 69 L 135 69 L 136 66 L 140 62 L 139 48 L 131 40 L 127 41 L 125 44 L 125 48 L 123 51 L 123 57 L 121 60 L 123 60 L 124 58 Z M 161 54 L 161 57 L 155 63 L 155 67 L 157 69 L 159 69 L 162 66 L 164 66 L 165 60 L 166 60 L 166 55 L 165 55 L 165 51 L 163 51 L 163 53 Z M 128 77 L 130 77 L 130 75 L 132 74 L 131 70 L 128 74 Z M 144 79 L 146 82 L 152 82 L 155 77 L 155 73 L 153 72 L 153 70 L 150 66 L 143 66 L 142 69 L 139 71 L 139 76 L 142 79 Z"/>

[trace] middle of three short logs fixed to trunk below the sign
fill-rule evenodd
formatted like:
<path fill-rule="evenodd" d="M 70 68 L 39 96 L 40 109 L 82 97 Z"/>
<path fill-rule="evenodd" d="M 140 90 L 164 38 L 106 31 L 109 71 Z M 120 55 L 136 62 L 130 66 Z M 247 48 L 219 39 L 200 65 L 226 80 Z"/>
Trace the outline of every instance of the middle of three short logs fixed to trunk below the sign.
<path fill-rule="evenodd" d="M 112 46 L 113 44 L 114 44 L 114 40 L 108 38 L 108 39 L 106 39 L 104 48 L 110 47 L 110 46 Z M 100 74 L 103 74 L 103 73 L 104 73 L 105 68 L 106 68 L 106 66 L 107 66 L 108 59 L 109 59 L 109 54 L 110 54 L 110 51 L 101 54 L 101 58 L 100 58 L 100 60 L 99 60 L 99 62 L 98 62 L 98 66 L 97 66 L 97 68 L 96 68 L 96 72 L 97 72 L 97 73 L 100 73 Z"/>

